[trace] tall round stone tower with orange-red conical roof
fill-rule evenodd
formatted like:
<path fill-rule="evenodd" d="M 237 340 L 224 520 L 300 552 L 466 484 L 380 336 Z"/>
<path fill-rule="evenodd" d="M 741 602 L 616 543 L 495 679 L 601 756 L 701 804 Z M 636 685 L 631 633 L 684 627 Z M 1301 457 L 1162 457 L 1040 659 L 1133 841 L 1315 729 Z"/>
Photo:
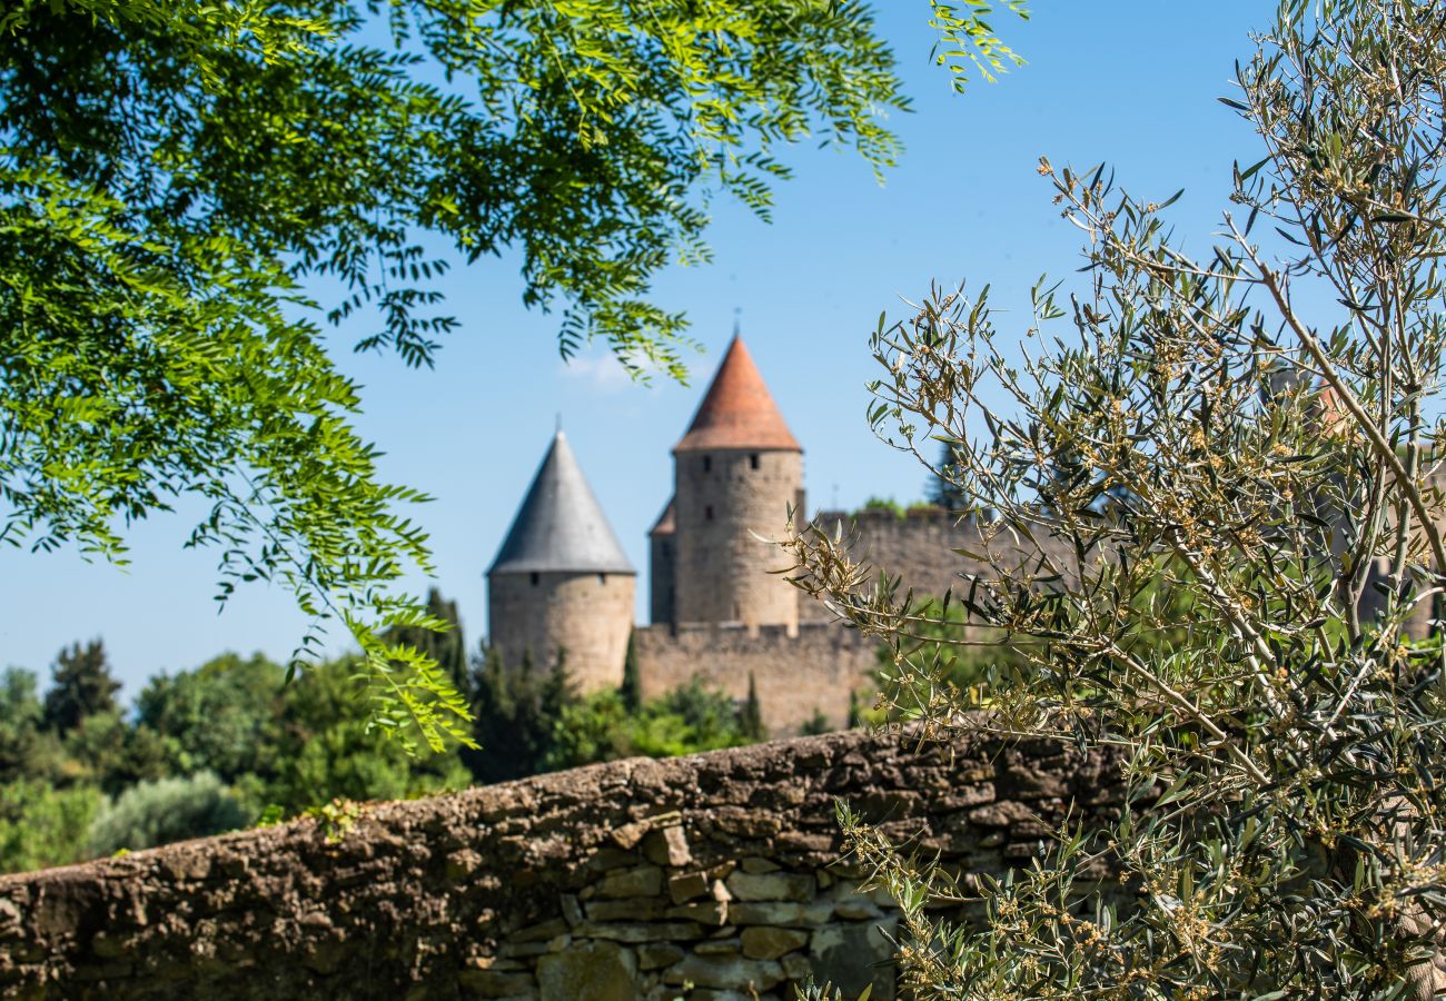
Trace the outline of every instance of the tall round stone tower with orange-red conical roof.
<path fill-rule="evenodd" d="M 801 516 L 803 448 L 736 334 L 672 456 L 672 531 L 665 514 L 652 534 L 654 560 L 674 554 L 671 621 L 797 629 L 798 592 L 768 573 L 788 557 L 755 532 L 781 537 L 788 505 Z"/>

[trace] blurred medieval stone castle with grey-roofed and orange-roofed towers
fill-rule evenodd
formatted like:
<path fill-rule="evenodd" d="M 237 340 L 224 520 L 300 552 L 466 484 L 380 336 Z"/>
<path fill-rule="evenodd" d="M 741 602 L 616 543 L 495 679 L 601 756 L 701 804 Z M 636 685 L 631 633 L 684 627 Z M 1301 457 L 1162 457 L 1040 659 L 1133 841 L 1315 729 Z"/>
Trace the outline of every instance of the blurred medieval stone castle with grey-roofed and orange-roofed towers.
<path fill-rule="evenodd" d="M 622 683 L 632 635 L 645 697 L 693 676 L 743 697 L 752 677 L 774 735 L 816 713 L 842 726 L 850 693 L 872 691 L 876 644 L 769 573 L 787 557 L 759 537 L 790 505 L 804 511 L 803 448 L 736 336 L 672 457 L 672 499 L 649 532 L 652 622 L 633 625 L 636 570 L 560 431 L 487 570 L 492 642 L 513 667 L 565 649 L 580 687 L 597 690 Z M 868 558 L 915 590 L 957 580 L 946 512 L 852 518 Z"/>

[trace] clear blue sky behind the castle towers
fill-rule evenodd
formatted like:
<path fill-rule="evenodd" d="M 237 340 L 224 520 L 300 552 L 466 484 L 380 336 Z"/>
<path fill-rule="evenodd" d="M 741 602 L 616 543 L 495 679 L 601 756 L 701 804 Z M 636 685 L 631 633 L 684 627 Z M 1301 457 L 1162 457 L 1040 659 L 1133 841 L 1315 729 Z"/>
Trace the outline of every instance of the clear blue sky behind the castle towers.
<path fill-rule="evenodd" d="M 630 383 L 602 352 L 558 359 L 555 317 L 529 314 L 508 260 L 457 268 L 444 282 L 461 327 L 435 370 L 393 356 L 354 356 L 364 385 L 360 427 L 386 451 L 382 473 L 435 502 L 411 514 L 431 532 L 435 584 L 460 603 L 469 647 L 486 632 L 483 571 L 496 554 L 557 415 L 628 555 L 646 613 L 645 532 L 671 490 L 669 448 L 685 430 L 740 310 L 743 337 L 804 447 L 810 506 L 856 506 L 872 495 L 908 502 L 924 473 L 891 453 L 865 421 L 873 378 L 868 336 L 881 310 L 902 314 L 931 281 L 993 285 L 1019 311 L 1035 279 L 1069 279 L 1077 230 L 1051 204 L 1038 158 L 1108 161 L 1139 195 L 1186 195 L 1170 210 L 1187 249 L 1207 247 L 1228 207 L 1231 162 L 1255 162 L 1257 137 L 1216 101 L 1235 59 L 1274 4 L 1261 0 L 1037 0 L 1021 25 L 998 27 L 1030 62 L 960 97 L 928 64 L 923 0 L 878 0 L 915 113 L 894 120 L 907 152 L 886 184 L 856 156 L 800 146 L 775 221 L 719 205 L 714 263 L 675 268 L 656 285 L 687 310 L 706 353 L 693 385 Z M 1001 330 L 1008 331 L 1008 317 Z M 221 615 L 215 554 L 181 548 L 187 514 L 132 529 L 129 570 L 72 551 L 0 554 L 0 665 L 48 673 L 65 644 L 101 636 L 133 694 L 158 671 L 195 667 L 227 649 L 285 658 L 304 621 L 285 592 L 241 590 Z M 415 586 L 428 582 L 418 576 Z M 340 649 L 344 636 L 333 634 Z"/>

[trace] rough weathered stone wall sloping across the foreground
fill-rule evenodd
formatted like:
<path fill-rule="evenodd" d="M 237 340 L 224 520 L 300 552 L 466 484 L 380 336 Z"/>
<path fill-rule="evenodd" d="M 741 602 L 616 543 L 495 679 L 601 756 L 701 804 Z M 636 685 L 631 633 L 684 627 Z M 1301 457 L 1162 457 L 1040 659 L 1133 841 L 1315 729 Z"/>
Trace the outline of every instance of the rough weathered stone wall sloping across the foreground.
<path fill-rule="evenodd" d="M 375 804 L 334 839 L 305 820 L 0 877 L 0 992 L 766 1001 L 814 972 L 886 1001 L 897 914 L 839 865 L 834 797 L 999 874 L 1111 784 L 1053 745 L 852 732 Z"/>

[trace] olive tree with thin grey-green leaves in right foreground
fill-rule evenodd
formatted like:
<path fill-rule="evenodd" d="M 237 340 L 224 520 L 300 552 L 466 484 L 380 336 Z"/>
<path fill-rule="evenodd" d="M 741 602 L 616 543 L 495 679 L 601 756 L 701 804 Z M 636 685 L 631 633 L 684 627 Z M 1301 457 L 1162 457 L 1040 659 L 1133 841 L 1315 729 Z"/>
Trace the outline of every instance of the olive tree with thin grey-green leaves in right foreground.
<path fill-rule="evenodd" d="M 1285 0 L 1255 41 L 1222 100 L 1262 158 L 1209 255 L 1171 200 L 1041 161 L 1077 289 L 1041 282 L 1018 334 L 988 289 L 881 320 L 870 422 L 925 466 L 946 443 L 931 472 L 983 527 L 960 623 L 840 534 L 788 541 L 795 583 L 891 644 L 925 736 L 1118 762 L 1118 817 L 1008 879 L 840 810 L 901 901 L 915 997 L 1446 989 L 1446 10 Z M 985 693 L 949 687 L 947 649 L 995 635 L 1017 655 Z M 982 921 L 946 910 L 970 901 Z"/>

